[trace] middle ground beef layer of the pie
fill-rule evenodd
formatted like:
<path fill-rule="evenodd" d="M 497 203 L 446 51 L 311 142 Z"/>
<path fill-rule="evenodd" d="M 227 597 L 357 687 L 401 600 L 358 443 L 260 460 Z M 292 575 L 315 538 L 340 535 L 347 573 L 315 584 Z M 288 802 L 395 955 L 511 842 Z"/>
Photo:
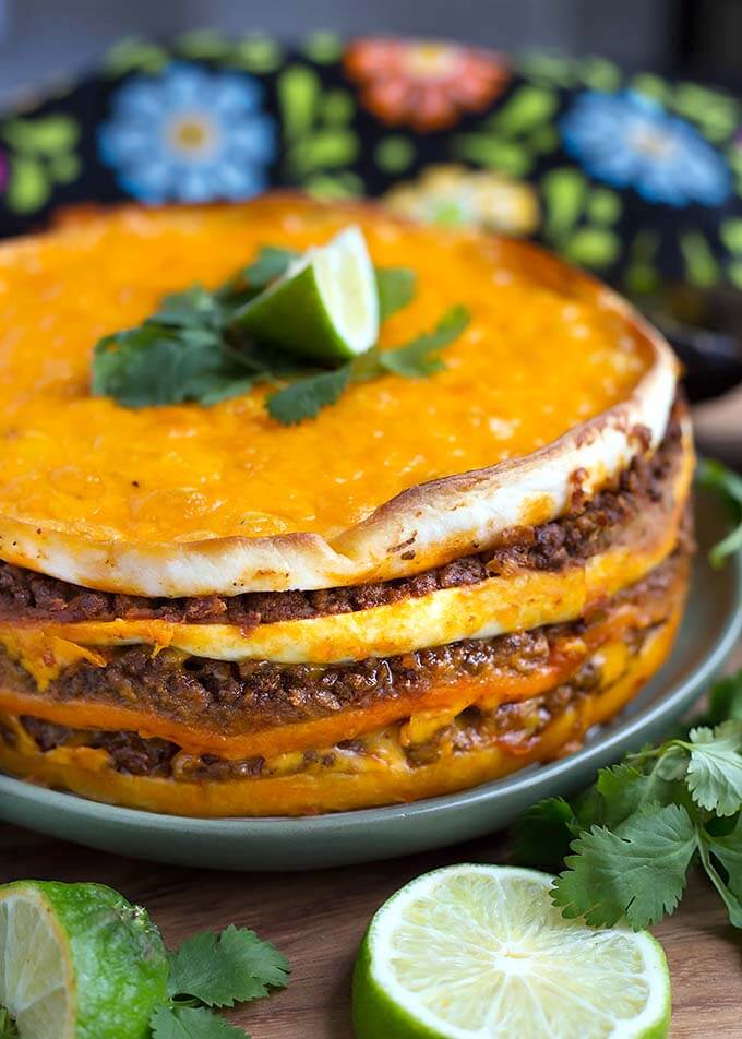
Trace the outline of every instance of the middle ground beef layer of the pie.
<path fill-rule="evenodd" d="M 595 604 L 572 623 L 344 665 L 211 660 L 175 649 L 157 653 L 146 645 L 96 648 L 105 666 L 81 660 L 40 695 L 58 704 L 135 707 L 219 736 L 254 733 L 382 702 L 421 702 L 430 690 L 462 678 L 496 686 L 510 677 L 536 674 L 565 642 L 589 641 L 598 628 L 610 631 L 622 607 L 637 607 L 643 628 L 663 623 L 682 601 L 686 575 L 687 556 L 679 549 L 643 581 Z M 633 629 L 625 633 L 629 641 L 639 636 Z M 39 695 L 32 677 L 8 653 L 0 653 L 0 686 Z"/>

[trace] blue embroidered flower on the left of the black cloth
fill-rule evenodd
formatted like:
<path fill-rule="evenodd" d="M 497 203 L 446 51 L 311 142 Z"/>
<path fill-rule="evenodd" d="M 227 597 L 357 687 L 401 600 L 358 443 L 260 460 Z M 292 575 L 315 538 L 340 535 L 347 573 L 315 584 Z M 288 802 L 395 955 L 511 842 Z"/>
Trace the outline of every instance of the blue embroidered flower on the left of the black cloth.
<path fill-rule="evenodd" d="M 99 130 L 100 156 L 143 202 L 247 199 L 265 187 L 276 154 L 262 87 L 236 72 L 171 64 L 136 76 Z"/>

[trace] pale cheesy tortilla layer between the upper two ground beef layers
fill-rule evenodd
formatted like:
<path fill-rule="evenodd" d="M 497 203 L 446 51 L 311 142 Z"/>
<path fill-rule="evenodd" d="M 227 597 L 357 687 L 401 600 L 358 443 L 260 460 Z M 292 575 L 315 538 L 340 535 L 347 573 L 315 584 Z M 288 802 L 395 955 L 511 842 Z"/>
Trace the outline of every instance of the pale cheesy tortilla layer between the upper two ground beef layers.
<path fill-rule="evenodd" d="M 693 471 L 685 445 L 673 487 L 672 514 L 583 564 L 554 572 L 523 571 L 410 597 L 385 606 L 307 620 L 260 624 L 180 624 L 159 620 L 0 624 L 0 644 L 22 658 L 41 688 L 68 664 L 71 647 L 145 643 L 219 660 L 335 664 L 388 657 L 463 638 L 492 638 L 582 617 L 596 600 L 615 595 L 654 570 L 675 547 Z"/>

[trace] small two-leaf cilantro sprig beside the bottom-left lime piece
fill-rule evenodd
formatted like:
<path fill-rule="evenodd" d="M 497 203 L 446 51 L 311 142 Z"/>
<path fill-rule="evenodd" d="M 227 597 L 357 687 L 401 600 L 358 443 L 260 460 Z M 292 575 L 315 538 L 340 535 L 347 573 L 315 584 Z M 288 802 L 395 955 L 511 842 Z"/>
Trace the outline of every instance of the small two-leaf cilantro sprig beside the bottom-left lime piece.
<path fill-rule="evenodd" d="M 274 945 L 236 927 L 187 939 L 168 965 L 169 1001 L 152 1016 L 153 1039 L 249 1039 L 213 1008 L 263 999 L 285 988 L 290 974 Z"/>

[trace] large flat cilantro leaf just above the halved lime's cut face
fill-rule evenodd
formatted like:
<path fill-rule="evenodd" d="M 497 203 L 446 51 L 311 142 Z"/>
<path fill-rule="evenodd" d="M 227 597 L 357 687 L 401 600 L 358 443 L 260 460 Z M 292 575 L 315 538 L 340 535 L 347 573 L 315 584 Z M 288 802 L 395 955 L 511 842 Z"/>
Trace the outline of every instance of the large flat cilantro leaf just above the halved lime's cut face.
<path fill-rule="evenodd" d="M 679 804 L 647 805 L 615 833 L 593 826 L 572 845 L 554 905 L 591 927 L 612 927 L 625 916 L 643 930 L 675 909 L 697 844 L 693 821 Z"/>

